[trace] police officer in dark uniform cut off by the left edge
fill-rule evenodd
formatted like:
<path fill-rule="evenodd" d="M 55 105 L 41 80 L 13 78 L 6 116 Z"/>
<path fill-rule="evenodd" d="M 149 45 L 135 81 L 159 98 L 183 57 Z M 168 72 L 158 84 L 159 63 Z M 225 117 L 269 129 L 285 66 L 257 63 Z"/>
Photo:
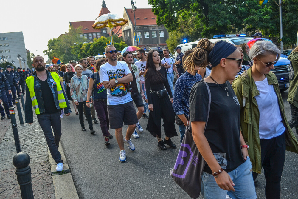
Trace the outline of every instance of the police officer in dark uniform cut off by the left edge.
<path fill-rule="evenodd" d="M 0 67 L 0 71 L 1 70 L 2 70 L 2 68 Z M 0 90 L 1 90 L 1 100 L 3 102 L 3 106 L 4 106 L 4 109 L 5 109 L 7 118 L 10 119 L 10 115 L 9 115 L 9 103 L 8 103 L 8 99 L 7 99 L 6 93 L 9 93 L 9 95 L 10 95 L 11 89 L 10 89 L 9 82 L 7 81 L 5 75 L 2 72 L 0 72 Z M 2 112 L 1 112 L 1 120 L 3 120 L 4 118 L 5 118 L 5 114 L 3 116 L 2 115 Z"/>

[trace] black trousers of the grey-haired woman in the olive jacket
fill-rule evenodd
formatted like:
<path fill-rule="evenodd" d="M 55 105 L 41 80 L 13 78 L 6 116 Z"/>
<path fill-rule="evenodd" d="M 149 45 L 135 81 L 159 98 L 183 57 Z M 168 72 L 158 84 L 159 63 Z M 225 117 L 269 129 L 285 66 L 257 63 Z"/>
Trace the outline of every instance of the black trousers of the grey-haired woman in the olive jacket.
<path fill-rule="evenodd" d="M 280 180 L 285 163 L 285 132 L 275 138 L 260 139 L 260 144 L 262 167 L 266 179 L 266 198 L 280 198 Z M 252 172 L 254 180 L 257 175 Z"/>

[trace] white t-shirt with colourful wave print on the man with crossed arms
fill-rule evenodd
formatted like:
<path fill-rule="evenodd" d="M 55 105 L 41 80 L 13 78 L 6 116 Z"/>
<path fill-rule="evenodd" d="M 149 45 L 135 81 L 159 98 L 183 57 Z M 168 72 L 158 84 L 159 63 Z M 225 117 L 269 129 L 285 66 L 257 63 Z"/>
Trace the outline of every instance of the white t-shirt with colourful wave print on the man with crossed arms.
<path fill-rule="evenodd" d="M 99 69 L 101 82 L 122 78 L 129 73 L 131 72 L 124 61 L 117 61 L 116 66 L 112 66 L 107 62 L 101 65 Z M 116 87 L 107 89 L 107 91 L 108 105 L 125 104 L 132 101 L 130 92 L 127 92 L 125 84 L 118 84 Z"/>

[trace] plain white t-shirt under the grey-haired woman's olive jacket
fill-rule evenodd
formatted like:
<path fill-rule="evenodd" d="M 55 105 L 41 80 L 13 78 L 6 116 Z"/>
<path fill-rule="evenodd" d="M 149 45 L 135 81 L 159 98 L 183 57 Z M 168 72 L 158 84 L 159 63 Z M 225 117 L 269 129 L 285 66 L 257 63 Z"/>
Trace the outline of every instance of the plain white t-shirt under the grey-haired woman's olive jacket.
<path fill-rule="evenodd" d="M 267 77 L 263 81 L 256 81 L 255 84 L 260 92 L 260 95 L 255 96 L 260 112 L 260 139 L 277 137 L 283 134 L 285 127 L 273 85 L 268 84 Z"/>

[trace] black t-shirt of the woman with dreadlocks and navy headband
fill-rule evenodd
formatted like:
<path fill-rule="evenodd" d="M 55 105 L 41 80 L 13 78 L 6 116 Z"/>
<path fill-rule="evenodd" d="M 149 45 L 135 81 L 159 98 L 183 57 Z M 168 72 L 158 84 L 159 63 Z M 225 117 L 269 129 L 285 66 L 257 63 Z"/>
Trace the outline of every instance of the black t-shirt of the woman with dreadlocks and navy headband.
<path fill-rule="evenodd" d="M 221 168 L 226 172 L 236 169 L 244 162 L 240 149 L 240 105 L 231 84 L 229 96 L 218 84 L 207 83 L 211 92 L 211 105 L 205 137 Z M 209 95 L 204 82 L 195 83 L 190 91 L 190 121 L 207 120 Z M 206 164 L 204 171 L 212 173 Z"/>

